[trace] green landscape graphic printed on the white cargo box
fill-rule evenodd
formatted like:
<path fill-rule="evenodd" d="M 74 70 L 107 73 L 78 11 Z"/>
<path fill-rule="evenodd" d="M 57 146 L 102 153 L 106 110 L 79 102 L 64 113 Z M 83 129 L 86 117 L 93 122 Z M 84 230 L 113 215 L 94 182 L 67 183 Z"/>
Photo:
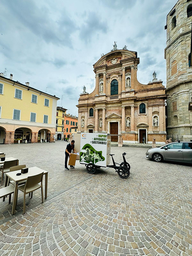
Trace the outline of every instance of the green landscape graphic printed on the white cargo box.
<path fill-rule="evenodd" d="M 102 151 L 97 151 L 90 144 L 85 144 L 80 152 L 80 162 L 96 164 L 99 161 L 105 161 Z"/>

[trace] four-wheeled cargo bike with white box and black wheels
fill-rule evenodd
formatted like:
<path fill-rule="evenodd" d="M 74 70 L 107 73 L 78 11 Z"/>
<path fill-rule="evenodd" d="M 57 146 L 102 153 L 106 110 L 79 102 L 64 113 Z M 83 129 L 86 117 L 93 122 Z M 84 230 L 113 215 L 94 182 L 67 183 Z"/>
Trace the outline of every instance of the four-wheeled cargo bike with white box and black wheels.
<path fill-rule="evenodd" d="M 126 161 L 124 152 L 123 162 L 118 164 L 110 154 L 111 136 L 104 133 L 81 133 L 80 164 L 85 164 L 87 172 L 93 174 L 101 167 L 114 168 L 119 177 L 126 179 L 130 175 L 130 164 Z M 113 164 L 110 165 L 110 157 Z"/>

